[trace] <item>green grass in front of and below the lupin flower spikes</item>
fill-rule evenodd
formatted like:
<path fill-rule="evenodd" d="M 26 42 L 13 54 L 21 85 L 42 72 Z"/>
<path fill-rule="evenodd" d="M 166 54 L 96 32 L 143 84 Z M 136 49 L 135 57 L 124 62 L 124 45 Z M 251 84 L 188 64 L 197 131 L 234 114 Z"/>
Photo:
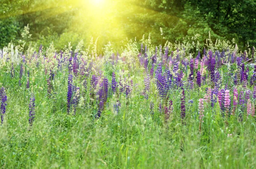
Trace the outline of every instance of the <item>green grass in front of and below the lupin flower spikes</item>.
<path fill-rule="evenodd" d="M 163 112 L 158 110 L 161 100 L 154 92 L 155 86 L 151 84 L 148 100 L 140 94 L 144 75 L 138 72 L 134 72 L 137 85 L 131 97 L 120 95 L 120 111 L 113 110 L 116 100 L 113 95 L 99 119 L 94 118 L 97 106 L 90 104 L 90 91 L 85 89 L 84 102 L 80 103 L 76 115 L 67 115 L 67 74 L 63 72 L 55 75 L 52 97 L 47 97 L 47 75 L 40 71 L 31 72 L 31 78 L 35 79 L 31 80 L 29 89 L 26 89 L 25 77 L 23 85 L 18 85 L 18 72 L 14 78 L 5 70 L 1 74 L 0 82 L 8 96 L 7 113 L 0 126 L 2 168 L 256 167 L 253 117 L 243 113 L 243 120 L 239 121 L 241 110 L 237 110 L 236 115 L 227 120 L 217 103 L 214 108 L 207 105 L 199 132 L 198 99 L 204 97 L 207 85 L 185 91 L 184 121 L 180 119 L 180 91 L 172 90 L 169 96 L 174 111 L 165 123 Z M 36 115 L 30 126 L 28 104 L 32 90 Z M 189 103 L 190 99 L 194 103 Z M 153 110 L 150 102 L 154 103 Z"/>

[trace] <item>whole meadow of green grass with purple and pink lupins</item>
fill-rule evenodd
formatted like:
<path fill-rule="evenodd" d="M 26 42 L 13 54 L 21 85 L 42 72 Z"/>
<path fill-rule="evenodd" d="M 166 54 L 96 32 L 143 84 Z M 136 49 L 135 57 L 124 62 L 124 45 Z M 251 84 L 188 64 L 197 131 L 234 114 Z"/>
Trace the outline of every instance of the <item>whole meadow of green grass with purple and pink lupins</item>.
<path fill-rule="evenodd" d="M 255 48 L 198 36 L 158 46 L 143 36 L 102 54 L 93 39 L 61 51 L 9 43 L 0 167 L 256 168 Z"/>

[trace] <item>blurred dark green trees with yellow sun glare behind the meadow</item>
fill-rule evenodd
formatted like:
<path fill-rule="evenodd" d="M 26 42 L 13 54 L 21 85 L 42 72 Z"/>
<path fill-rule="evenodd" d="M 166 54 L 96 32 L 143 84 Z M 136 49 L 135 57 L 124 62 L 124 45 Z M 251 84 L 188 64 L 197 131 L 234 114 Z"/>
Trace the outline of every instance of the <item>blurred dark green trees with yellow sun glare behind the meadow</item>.
<path fill-rule="evenodd" d="M 109 41 L 121 51 L 126 38 L 151 34 L 151 42 L 182 41 L 200 34 L 205 43 L 232 40 L 256 45 L 256 0 L 0 0 L 0 48 L 17 43 L 29 23 L 30 41 L 63 49 L 97 38 L 98 51 Z M 160 33 L 163 29 L 163 35 Z M 164 37 L 164 39 L 163 39 Z"/>

